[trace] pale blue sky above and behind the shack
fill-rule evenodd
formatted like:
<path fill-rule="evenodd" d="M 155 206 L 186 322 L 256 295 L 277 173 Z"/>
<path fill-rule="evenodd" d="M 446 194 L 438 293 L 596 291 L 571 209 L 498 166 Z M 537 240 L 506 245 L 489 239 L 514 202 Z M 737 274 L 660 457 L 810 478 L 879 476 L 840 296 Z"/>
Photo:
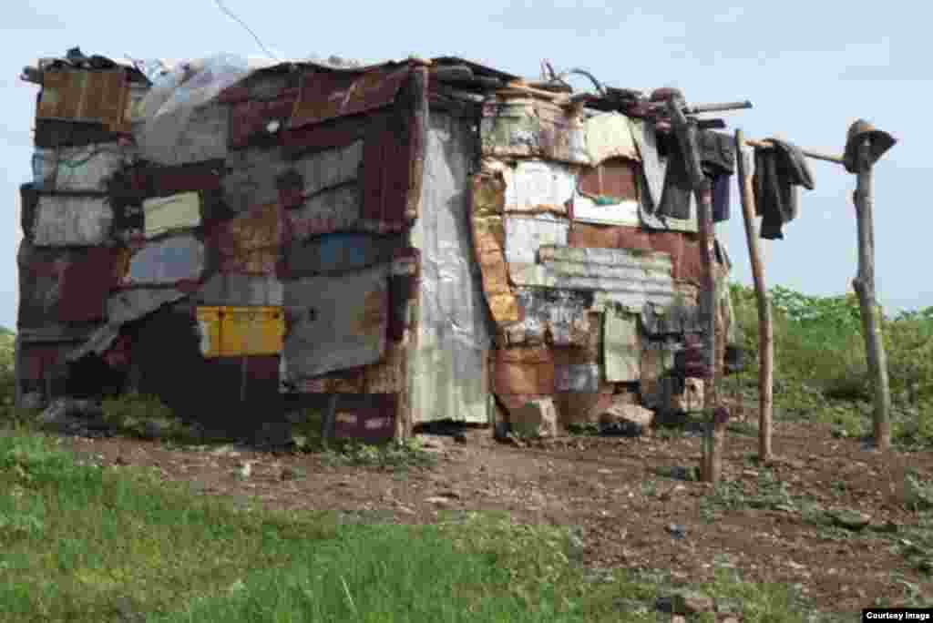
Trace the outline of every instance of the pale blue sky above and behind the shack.
<path fill-rule="evenodd" d="M 7 2 L 0 19 L 0 325 L 16 322 L 18 187 L 31 176 L 35 90 L 18 76 L 38 57 L 80 46 L 113 58 L 199 58 L 216 52 L 259 54 L 252 37 L 213 0 Z M 933 145 L 925 117 L 933 100 L 929 21 L 920 3 L 856 5 L 798 2 L 735 7 L 727 3 L 488 2 L 299 3 L 227 6 L 267 47 L 289 58 L 338 54 L 365 61 L 462 56 L 536 76 L 542 59 L 585 67 L 618 87 L 675 86 L 691 102 L 749 99 L 753 110 L 727 114 L 750 138 L 783 135 L 803 147 L 841 152 L 849 123 L 869 118 L 899 143 L 875 170 L 878 294 L 885 306 L 933 305 L 926 269 L 933 211 L 923 155 Z M 667 8 L 670 6 L 670 8 Z M 578 83 L 584 86 L 585 82 Z M 811 161 L 816 188 L 801 193 L 801 216 L 786 240 L 769 245 L 767 279 L 809 294 L 839 294 L 856 273 L 855 177 Z M 735 202 L 737 206 L 737 201 Z M 734 278 L 751 283 L 741 213 L 724 235 Z"/>

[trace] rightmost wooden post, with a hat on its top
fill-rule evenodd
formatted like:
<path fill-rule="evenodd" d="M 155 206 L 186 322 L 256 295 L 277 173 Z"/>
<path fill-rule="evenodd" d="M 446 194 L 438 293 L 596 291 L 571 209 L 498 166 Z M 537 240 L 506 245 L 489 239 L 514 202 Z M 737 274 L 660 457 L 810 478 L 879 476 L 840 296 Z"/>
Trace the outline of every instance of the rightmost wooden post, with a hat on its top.
<path fill-rule="evenodd" d="M 856 192 L 852 201 L 856 206 L 858 227 L 858 274 L 852 286 L 858 296 L 862 316 L 862 334 L 869 373 L 874 384 L 874 440 L 879 450 L 891 447 L 891 390 L 887 378 L 887 355 L 882 341 L 881 314 L 875 300 L 874 284 L 874 225 L 871 200 L 871 143 L 862 140 L 857 151 Z"/>

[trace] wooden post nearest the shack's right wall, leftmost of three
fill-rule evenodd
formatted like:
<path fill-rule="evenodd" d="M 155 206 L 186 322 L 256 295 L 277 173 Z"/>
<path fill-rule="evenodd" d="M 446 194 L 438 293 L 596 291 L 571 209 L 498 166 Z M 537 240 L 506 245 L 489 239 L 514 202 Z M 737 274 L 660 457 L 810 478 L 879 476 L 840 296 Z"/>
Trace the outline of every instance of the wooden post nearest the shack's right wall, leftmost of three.
<path fill-rule="evenodd" d="M 718 414 L 716 389 L 717 348 L 716 348 L 716 305 L 717 287 L 713 275 L 715 264 L 713 248 L 713 194 L 710 184 L 703 175 L 700 163 L 700 151 L 697 147 L 696 128 L 683 114 L 685 105 L 679 98 L 667 101 L 671 124 L 677 135 L 682 157 L 687 164 L 691 186 L 697 196 L 697 221 L 700 229 L 700 248 L 703 251 L 703 284 L 700 288 L 700 312 L 703 323 L 705 343 L 703 351 L 705 365 L 709 370 L 706 386 L 703 388 L 703 408 L 709 413 L 706 435 L 703 437 L 703 458 L 700 465 L 701 478 L 706 482 L 717 482 L 722 473 L 722 453 L 726 440 L 727 418 Z"/>

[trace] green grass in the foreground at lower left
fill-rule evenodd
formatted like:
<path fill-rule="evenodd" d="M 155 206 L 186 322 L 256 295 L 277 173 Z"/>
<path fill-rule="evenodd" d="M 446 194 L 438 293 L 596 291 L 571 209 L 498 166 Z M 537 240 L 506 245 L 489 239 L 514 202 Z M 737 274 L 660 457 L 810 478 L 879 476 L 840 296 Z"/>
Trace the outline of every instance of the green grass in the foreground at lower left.
<path fill-rule="evenodd" d="M 0 429 L 4 621 L 669 620 L 653 609 L 665 575 L 594 580 L 575 539 L 503 515 L 409 527 L 244 508 Z M 787 588 L 722 577 L 706 588 L 746 621 L 801 620 Z"/>

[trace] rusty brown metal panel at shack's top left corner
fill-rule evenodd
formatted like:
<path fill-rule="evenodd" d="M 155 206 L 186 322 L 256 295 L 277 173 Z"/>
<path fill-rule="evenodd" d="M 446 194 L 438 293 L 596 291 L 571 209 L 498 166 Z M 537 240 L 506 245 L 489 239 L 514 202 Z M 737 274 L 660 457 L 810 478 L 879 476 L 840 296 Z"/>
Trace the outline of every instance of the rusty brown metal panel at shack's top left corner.
<path fill-rule="evenodd" d="M 47 71 L 36 118 L 103 123 L 113 132 L 126 130 L 129 85 L 123 69 L 107 71 Z"/>

